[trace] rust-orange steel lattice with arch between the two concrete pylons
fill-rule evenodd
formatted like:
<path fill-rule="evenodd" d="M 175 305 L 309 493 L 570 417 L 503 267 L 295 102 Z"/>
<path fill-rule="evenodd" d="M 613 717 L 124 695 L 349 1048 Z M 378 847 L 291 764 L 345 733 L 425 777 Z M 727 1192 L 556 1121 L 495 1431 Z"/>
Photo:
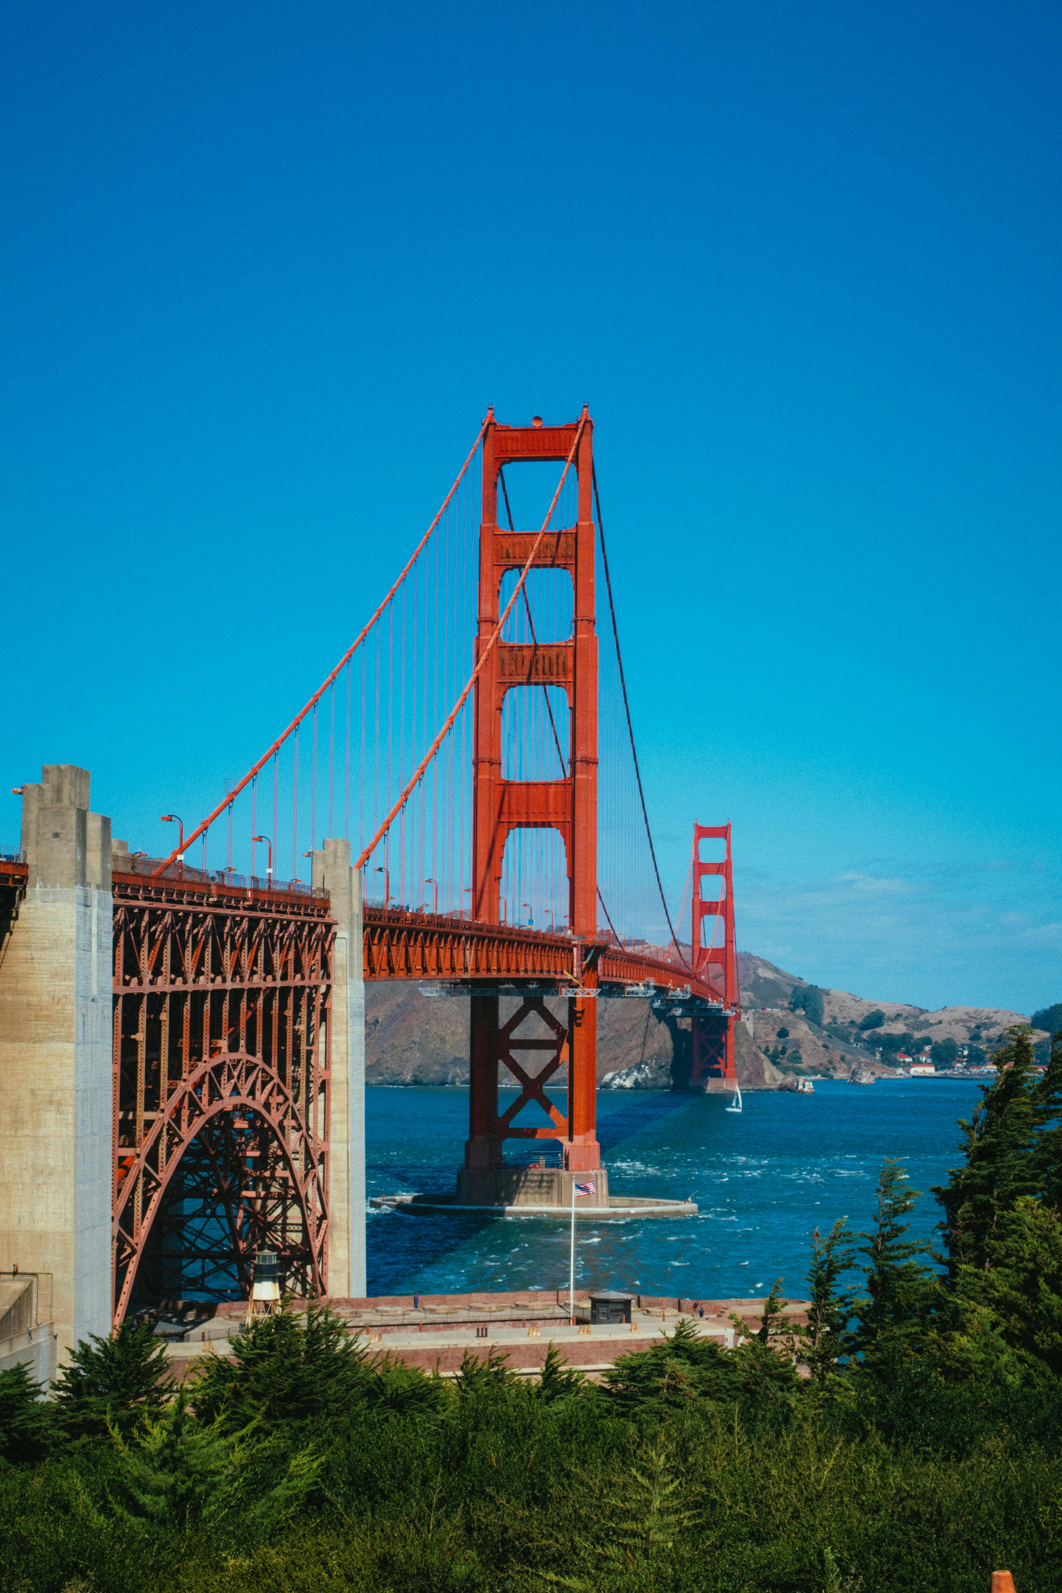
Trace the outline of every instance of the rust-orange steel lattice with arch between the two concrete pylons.
<path fill-rule="evenodd" d="M 115 875 L 115 1321 L 134 1294 L 247 1294 L 277 1251 L 326 1289 L 328 897 Z"/>

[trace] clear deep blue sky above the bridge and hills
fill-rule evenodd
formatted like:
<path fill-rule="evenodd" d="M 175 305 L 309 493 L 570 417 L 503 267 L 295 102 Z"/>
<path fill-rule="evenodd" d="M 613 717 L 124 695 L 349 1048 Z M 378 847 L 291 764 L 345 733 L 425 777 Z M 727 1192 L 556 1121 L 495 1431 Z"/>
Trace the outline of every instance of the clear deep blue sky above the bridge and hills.
<path fill-rule="evenodd" d="M 1059 1000 L 1060 40 L 1021 0 L 5 6 L 3 789 L 84 763 L 158 849 L 486 405 L 589 401 L 674 895 L 731 819 L 745 949 Z"/>

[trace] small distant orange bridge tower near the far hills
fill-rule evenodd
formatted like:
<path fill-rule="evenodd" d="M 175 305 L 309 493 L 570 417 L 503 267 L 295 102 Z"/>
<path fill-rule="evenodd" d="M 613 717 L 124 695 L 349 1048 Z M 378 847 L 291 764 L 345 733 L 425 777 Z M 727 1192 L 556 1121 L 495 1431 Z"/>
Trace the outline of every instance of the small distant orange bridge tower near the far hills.
<path fill-rule="evenodd" d="M 701 841 L 723 841 L 723 857 L 701 860 Z M 720 894 L 704 897 L 702 883 L 718 879 Z M 731 860 L 729 824 L 694 824 L 693 827 L 693 951 L 694 973 L 710 984 L 716 997 L 726 1004 L 726 1013 L 693 1016 L 693 1074 L 694 1088 L 712 1088 L 710 1080 L 720 1080 L 715 1088 L 736 1088 L 737 1067 L 734 1059 L 734 1023 L 740 1015 L 740 988 L 737 978 L 737 948 L 734 941 L 734 870 Z M 704 945 L 704 926 L 712 921 L 709 945 Z M 718 941 L 718 945 L 716 945 Z"/>

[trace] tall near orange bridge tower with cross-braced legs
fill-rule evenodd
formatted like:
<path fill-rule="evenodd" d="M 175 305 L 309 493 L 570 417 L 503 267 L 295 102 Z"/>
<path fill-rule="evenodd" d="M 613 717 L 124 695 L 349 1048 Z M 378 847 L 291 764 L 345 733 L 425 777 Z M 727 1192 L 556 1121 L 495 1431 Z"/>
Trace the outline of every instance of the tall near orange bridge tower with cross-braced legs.
<path fill-rule="evenodd" d="M 546 530 L 554 503 L 538 532 L 498 526 L 498 473 L 510 464 L 562 460 L 575 467 L 576 524 Z M 541 1039 L 552 1045 L 546 1072 L 567 1063 L 568 1115 L 554 1120 L 552 1137 L 562 1141 L 564 1166 L 589 1171 L 600 1166 L 595 1129 L 597 1075 L 597 959 L 583 959 L 583 945 L 597 937 L 597 636 L 594 629 L 594 422 L 588 409 L 567 425 L 500 425 L 494 414 L 482 435 L 482 523 L 479 527 L 479 623 L 476 634 L 476 698 L 473 750 L 473 919 L 498 922 L 505 843 L 513 830 L 557 830 L 565 849 L 572 986 L 567 1026 Z M 521 570 L 517 591 L 530 569 L 567 570 L 575 596 L 573 634 L 567 642 L 502 642 L 502 580 Z M 505 610 L 516 601 L 513 593 Z M 511 690 L 552 685 L 565 691 L 570 709 L 570 774 L 559 781 L 510 781 L 502 774 L 502 709 Z M 473 994 L 470 1024 L 470 1129 L 465 1145 L 468 1168 L 503 1164 L 502 1144 L 527 1137 L 513 1121 L 514 1109 L 498 1112 L 498 1064 L 521 1083 L 521 1104 L 529 1075 L 514 1063 L 514 1048 L 533 1048 L 521 1035 L 525 1018 L 546 1023 L 533 1002 L 524 1002 L 516 1018 L 498 1023 L 497 991 Z M 540 1074 L 538 1090 L 546 1072 Z M 551 1114 L 552 1115 L 552 1114 Z M 533 1131 L 532 1137 L 540 1137 Z"/>

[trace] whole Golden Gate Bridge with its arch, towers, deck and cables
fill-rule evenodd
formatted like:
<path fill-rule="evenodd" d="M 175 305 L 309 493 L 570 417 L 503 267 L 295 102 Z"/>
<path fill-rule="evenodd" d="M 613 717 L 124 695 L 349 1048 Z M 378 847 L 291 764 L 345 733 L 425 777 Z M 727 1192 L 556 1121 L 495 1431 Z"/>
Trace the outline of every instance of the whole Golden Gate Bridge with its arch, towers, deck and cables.
<path fill-rule="evenodd" d="M 511 503 L 535 491 L 548 503 L 517 526 Z M 25 787 L 35 803 L 48 790 Z M 688 1018 L 691 1086 L 736 1086 L 729 825 L 694 827 L 681 941 L 586 408 L 564 425 L 503 425 L 490 409 L 320 688 L 201 822 L 162 819 L 177 825 L 167 855 L 111 852 L 115 1321 L 166 1279 L 245 1292 L 256 1247 L 280 1254 L 296 1294 L 330 1292 L 350 1193 L 334 1128 L 355 1112 L 336 1091 L 338 1047 L 357 1045 L 336 991 L 358 978 L 470 999 L 463 1174 L 478 1200 L 508 1141 L 557 1141 L 570 1176 L 599 1168 L 600 999 Z M 33 857 L 0 867 L 14 913 Z"/>

